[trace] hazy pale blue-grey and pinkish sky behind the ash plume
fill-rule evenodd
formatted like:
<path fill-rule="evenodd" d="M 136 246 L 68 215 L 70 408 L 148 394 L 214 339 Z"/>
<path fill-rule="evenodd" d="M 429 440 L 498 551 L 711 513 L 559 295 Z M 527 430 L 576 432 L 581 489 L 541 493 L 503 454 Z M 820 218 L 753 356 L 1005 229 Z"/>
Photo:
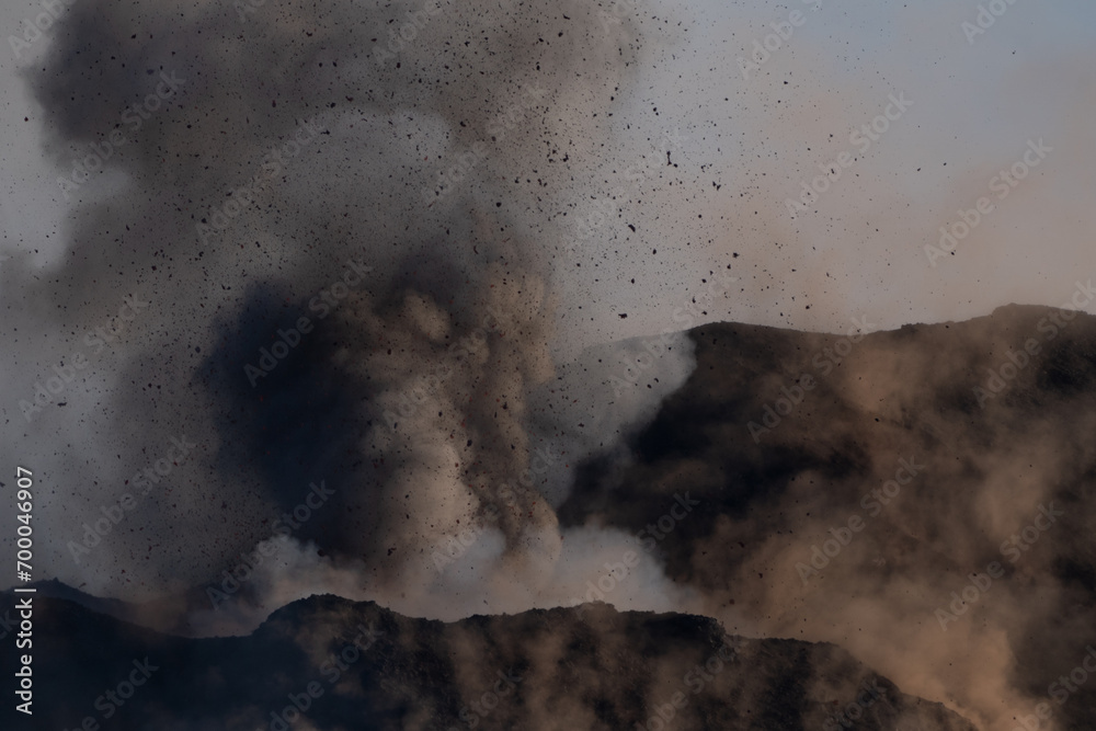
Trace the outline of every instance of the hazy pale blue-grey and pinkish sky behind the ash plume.
<path fill-rule="evenodd" d="M 630 12 L 647 19 L 646 43 L 658 47 L 658 60 L 644 62 L 618 106 L 606 110 L 632 149 L 589 161 L 591 174 L 575 181 L 574 208 L 557 219 L 555 235 L 575 243 L 573 217 L 614 189 L 639 186 L 643 202 L 578 241 L 587 263 L 566 287 L 583 311 L 568 316 L 594 317 L 593 340 L 671 327 L 696 273 L 729 252 L 740 254 L 749 276 L 711 319 L 843 330 L 856 313 L 892 328 L 966 319 L 1009 301 L 1061 304 L 1093 269 L 1096 95 L 1087 69 L 1096 9 L 1081 0 L 1006 7 L 971 44 L 961 24 L 975 22 L 977 2 L 824 0 L 814 10 L 802 2 L 639 0 Z M 13 33 L 36 10 L 7 2 L 0 27 Z M 792 11 L 803 13 L 800 26 L 743 79 L 739 57 L 749 58 L 753 42 Z M 19 60 L 9 43 L 0 53 L 2 247 L 9 255 L 37 250 L 43 265 L 64 247 L 66 204 L 57 171 L 43 163 L 42 112 L 19 75 L 41 59 L 52 31 Z M 913 105 L 822 194 L 818 213 L 791 219 L 785 199 L 820 174 L 820 163 L 856 151 L 850 132 L 882 113 L 892 92 Z M 632 182 L 626 168 L 658 158 L 664 133 L 674 130 L 680 167 L 657 184 Z M 997 202 L 957 255 L 931 267 L 924 247 L 936 243 L 939 227 L 995 195 L 993 175 L 1039 138 L 1053 152 Z M 632 277 L 642 286 L 623 286 Z M 636 315 L 619 320 L 610 310 Z"/>

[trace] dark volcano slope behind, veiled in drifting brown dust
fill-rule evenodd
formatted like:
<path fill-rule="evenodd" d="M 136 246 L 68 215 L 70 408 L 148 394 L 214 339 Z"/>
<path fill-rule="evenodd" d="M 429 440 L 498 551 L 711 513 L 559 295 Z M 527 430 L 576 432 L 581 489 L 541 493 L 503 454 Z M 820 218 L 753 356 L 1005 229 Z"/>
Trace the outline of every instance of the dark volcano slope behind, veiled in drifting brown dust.
<path fill-rule="evenodd" d="M 1039 704 L 1091 727 L 1096 684 L 1061 678 L 1096 642 L 1093 317 L 692 335 L 688 382 L 626 467 L 580 469 L 561 525 L 659 534 L 729 631 L 835 642 L 982 728 Z M 698 506 L 660 534 L 685 491 Z"/>

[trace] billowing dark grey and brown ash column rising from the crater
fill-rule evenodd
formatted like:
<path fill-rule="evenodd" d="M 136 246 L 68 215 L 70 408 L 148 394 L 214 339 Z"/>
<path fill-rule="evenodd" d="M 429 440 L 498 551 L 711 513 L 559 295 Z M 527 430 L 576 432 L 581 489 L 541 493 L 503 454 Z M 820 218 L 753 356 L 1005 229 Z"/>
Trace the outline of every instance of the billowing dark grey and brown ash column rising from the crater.
<path fill-rule="evenodd" d="M 197 633 L 319 591 L 672 607 L 653 555 L 553 510 L 692 369 L 678 335 L 553 355 L 553 219 L 612 156 L 633 19 L 238 5 L 83 3 L 30 75 L 73 215 L 48 273 L 9 263 L 38 334 L 4 408 L 57 487 L 50 570 Z"/>

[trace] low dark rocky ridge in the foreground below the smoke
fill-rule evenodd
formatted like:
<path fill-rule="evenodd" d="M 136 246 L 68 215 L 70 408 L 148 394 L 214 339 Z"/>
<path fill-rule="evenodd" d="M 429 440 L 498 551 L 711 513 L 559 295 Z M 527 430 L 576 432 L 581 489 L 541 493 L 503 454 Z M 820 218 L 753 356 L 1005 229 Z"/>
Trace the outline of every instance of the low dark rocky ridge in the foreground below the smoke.
<path fill-rule="evenodd" d="M 383 635 L 333 684 L 322 665 L 362 626 Z M 92 716 L 101 728 L 117 730 L 267 729 L 271 711 L 315 682 L 322 694 L 310 703 L 308 723 L 293 728 L 466 729 L 461 710 L 470 718 L 471 704 L 502 683 L 501 671 L 513 690 L 477 715 L 476 728 L 633 729 L 681 692 L 687 703 L 675 712 L 676 729 L 819 729 L 829 711 L 853 700 L 857 685 L 875 681 L 881 699 L 864 710 L 858 729 L 972 729 L 829 644 L 730 638 L 723 651 L 730 662 L 712 661 L 711 681 L 693 693 L 700 676 L 687 682 L 687 673 L 718 658 L 726 638 L 712 619 L 617 613 L 602 604 L 582 615 L 535 610 L 443 624 L 313 596 L 275 612 L 249 637 L 187 639 L 38 597 L 35 715 L 32 727 L 20 728 L 72 729 Z M 158 670 L 104 721 L 96 698 L 146 656 Z M 11 677 L 10 653 L 3 665 Z M 11 712 L 5 704 L 3 715 Z"/>

